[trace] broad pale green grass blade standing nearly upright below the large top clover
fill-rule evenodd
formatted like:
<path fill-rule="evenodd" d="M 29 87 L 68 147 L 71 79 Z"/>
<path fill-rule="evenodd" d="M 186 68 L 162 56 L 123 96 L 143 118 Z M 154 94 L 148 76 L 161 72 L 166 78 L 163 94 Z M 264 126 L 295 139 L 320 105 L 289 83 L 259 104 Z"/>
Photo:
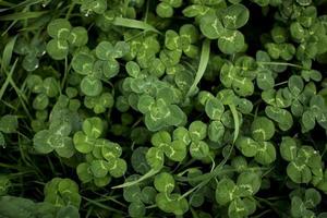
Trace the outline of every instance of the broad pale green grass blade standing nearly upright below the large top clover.
<path fill-rule="evenodd" d="M 194 78 L 193 84 L 191 85 L 186 97 L 190 97 L 191 95 L 194 94 L 197 84 L 199 83 L 202 76 L 204 75 L 206 68 L 208 65 L 209 62 L 209 57 L 210 57 L 210 40 L 209 39 L 205 39 L 203 45 L 202 45 L 202 51 L 201 51 L 201 58 L 199 58 L 199 64 L 198 64 L 198 69 Z"/>

